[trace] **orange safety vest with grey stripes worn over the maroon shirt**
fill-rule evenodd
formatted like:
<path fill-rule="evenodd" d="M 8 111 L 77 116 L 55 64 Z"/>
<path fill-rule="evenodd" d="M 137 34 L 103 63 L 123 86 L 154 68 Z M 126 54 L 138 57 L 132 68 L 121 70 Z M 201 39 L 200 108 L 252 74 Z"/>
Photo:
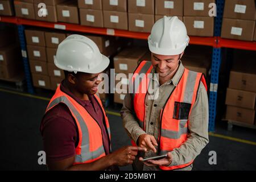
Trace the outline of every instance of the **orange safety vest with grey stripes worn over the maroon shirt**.
<path fill-rule="evenodd" d="M 94 95 L 98 104 L 101 106 L 102 113 L 104 113 L 106 130 L 110 141 L 110 128 L 108 118 L 102 106 L 100 98 Z M 54 96 L 49 102 L 46 112 L 51 110 L 54 106 L 63 103 L 68 106 L 73 118 L 75 118 L 76 125 L 79 129 L 79 143 L 76 147 L 75 164 L 90 163 L 105 156 L 105 150 L 102 141 L 101 127 L 97 121 L 86 111 L 86 109 L 74 100 L 68 94 L 60 90 L 58 86 Z M 110 148 L 111 150 L 111 148 Z"/>

